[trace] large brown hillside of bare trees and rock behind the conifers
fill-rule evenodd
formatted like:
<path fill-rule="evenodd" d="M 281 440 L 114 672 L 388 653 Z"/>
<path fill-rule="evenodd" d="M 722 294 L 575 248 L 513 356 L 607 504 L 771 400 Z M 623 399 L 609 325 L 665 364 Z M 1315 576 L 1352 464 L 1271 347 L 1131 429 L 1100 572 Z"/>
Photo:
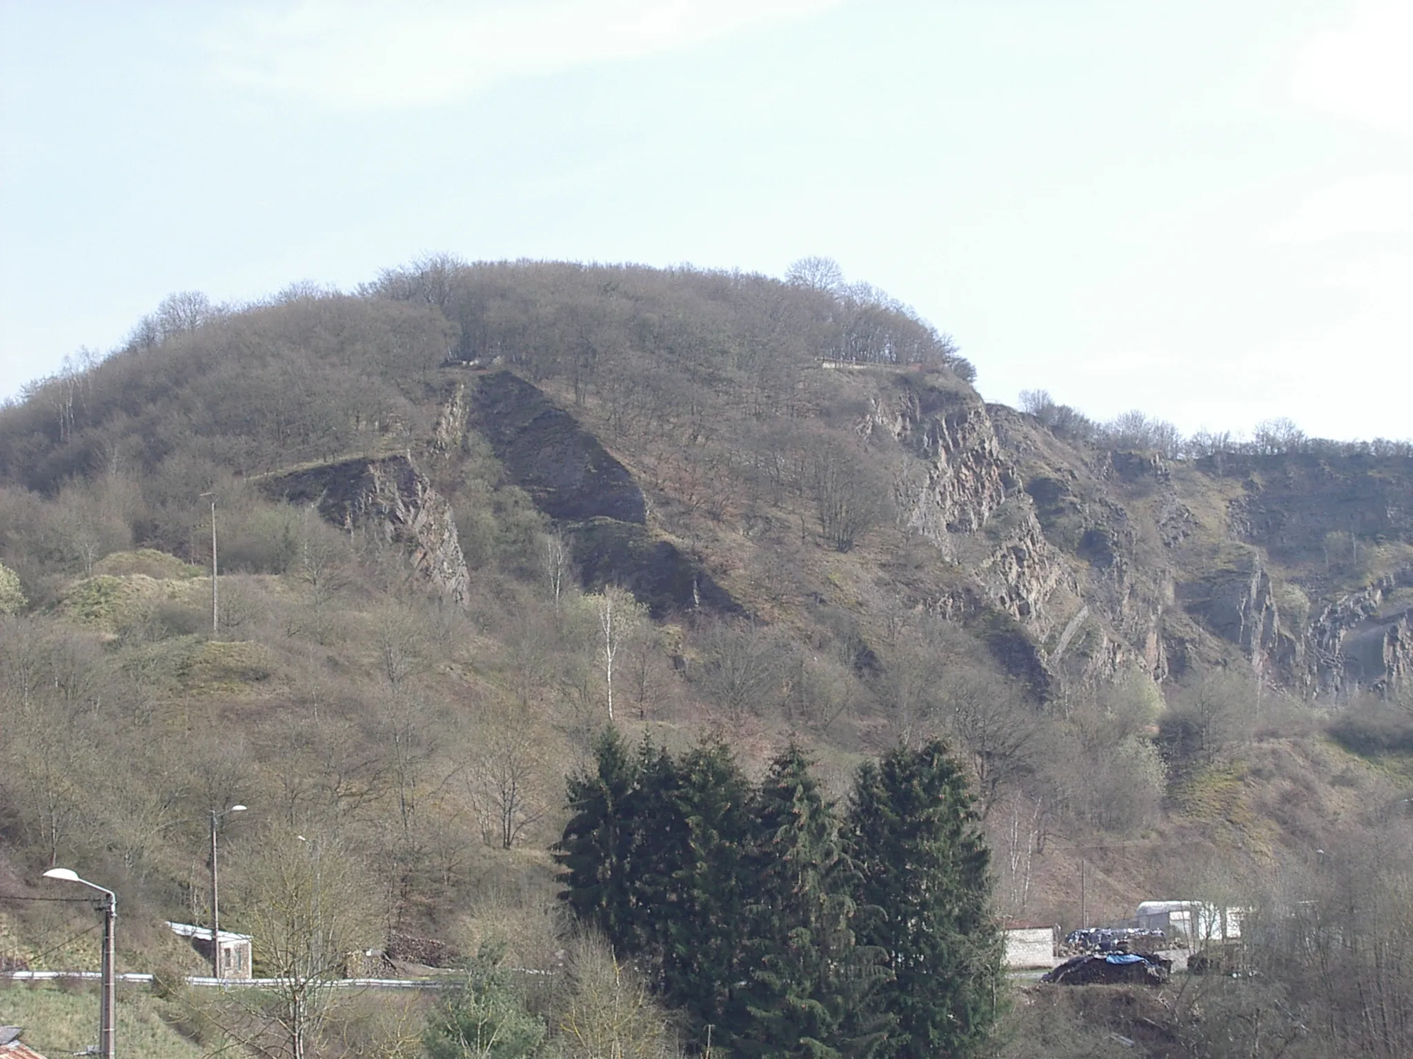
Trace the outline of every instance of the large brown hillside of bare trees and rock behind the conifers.
<path fill-rule="evenodd" d="M 562 777 L 610 710 L 756 771 L 794 736 L 835 795 L 944 734 L 998 908 L 1067 926 L 1081 870 L 1092 921 L 1383 856 L 1413 459 L 1106 448 L 971 377 L 808 271 L 432 258 L 170 299 L 0 415 L 4 856 L 202 921 L 205 813 L 243 801 L 232 922 L 318 832 L 350 945 L 495 929 L 547 966 Z M 40 960 L 42 926 L 8 943 Z"/>

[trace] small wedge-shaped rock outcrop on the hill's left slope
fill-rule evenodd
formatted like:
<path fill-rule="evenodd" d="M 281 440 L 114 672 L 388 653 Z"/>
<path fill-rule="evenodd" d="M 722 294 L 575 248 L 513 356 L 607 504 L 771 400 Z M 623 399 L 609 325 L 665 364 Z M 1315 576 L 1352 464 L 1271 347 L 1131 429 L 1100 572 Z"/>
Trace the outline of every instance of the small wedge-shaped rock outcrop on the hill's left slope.
<path fill-rule="evenodd" d="M 406 549 L 415 573 L 458 606 L 469 573 L 451 505 L 411 456 L 353 459 L 267 479 L 268 496 L 308 504 L 338 527 Z"/>

